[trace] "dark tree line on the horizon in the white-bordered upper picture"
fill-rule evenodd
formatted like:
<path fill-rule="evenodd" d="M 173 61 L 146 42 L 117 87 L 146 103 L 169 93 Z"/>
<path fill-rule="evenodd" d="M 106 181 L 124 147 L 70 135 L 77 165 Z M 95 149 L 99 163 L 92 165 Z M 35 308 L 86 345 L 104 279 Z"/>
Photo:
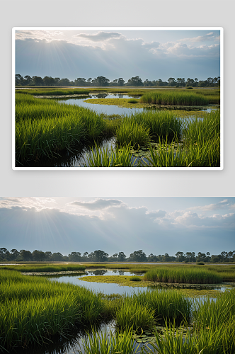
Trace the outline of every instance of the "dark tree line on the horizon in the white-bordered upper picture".
<path fill-rule="evenodd" d="M 220 87 L 220 76 L 208 77 L 206 80 L 190 79 L 178 77 L 170 77 L 167 81 L 161 79 L 150 81 L 148 79 L 142 81 L 139 76 L 134 76 L 125 82 L 122 77 L 110 81 L 105 76 L 98 76 L 92 79 L 89 77 L 87 80 L 83 77 L 78 77 L 74 81 L 70 81 L 67 78 L 60 79 L 59 77 L 53 78 L 52 76 L 29 76 L 24 77 L 20 74 L 16 74 L 16 86 L 137 86 L 137 87 Z"/>

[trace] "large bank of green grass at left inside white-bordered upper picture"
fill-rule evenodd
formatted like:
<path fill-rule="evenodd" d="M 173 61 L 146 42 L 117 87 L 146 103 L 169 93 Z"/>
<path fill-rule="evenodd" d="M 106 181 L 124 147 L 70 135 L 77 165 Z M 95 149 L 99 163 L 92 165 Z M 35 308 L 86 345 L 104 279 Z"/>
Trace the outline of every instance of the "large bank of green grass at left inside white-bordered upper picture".
<path fill-rule="evenodd" d="M 51 159 L 101 139 L 105 120 L 91 110 L 16 94 L 16 161 Z"/>

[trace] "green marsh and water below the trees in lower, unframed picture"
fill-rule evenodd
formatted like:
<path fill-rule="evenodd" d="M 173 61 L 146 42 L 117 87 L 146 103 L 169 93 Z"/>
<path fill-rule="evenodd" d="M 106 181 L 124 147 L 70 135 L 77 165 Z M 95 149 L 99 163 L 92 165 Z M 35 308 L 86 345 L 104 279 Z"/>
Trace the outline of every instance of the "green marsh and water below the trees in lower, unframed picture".
<path fill-rule="evenodd" d="M 63 267 L 1 266 L 4 353 L 234 353 L 234 265 Z"/>

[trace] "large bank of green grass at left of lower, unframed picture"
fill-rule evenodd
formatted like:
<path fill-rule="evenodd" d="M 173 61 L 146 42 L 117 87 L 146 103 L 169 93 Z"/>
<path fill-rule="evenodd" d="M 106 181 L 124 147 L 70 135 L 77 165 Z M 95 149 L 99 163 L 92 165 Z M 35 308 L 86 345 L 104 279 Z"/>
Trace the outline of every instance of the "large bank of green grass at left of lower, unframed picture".
<path fill-rule="evenodd" d="M 76 285 L 0 270 L 0 348 L 48 343 L 55 334 L 101 318 L 103 302 Z"/>

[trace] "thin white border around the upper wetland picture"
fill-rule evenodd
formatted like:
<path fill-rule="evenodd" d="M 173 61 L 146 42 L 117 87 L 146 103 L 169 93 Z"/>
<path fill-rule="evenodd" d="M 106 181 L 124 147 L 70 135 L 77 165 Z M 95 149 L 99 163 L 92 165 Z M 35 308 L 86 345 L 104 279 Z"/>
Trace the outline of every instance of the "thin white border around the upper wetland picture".
<path fill-rule="evenodd" d="M 16 30 L 219 30 L 220 31 L 220 167 L 16 167 L 15 76 Z M 15 171 L 213 171 L 224 169 L 224 28 L 222 27 L 13 27 L 12 28 L 12 169 Z"/>

